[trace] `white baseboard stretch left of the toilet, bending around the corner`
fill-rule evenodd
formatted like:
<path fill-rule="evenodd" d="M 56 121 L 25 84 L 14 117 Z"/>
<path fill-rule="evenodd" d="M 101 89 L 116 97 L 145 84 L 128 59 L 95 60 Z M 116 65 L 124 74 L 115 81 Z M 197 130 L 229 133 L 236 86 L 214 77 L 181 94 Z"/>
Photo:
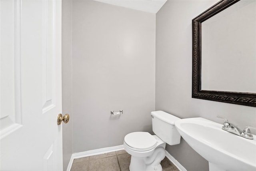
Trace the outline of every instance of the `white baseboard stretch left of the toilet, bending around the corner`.
<path fill-rule="evenodd" d="M 124 149 L 124 145 L 118 145 L 118 146 L 114 146 L 114 147 L 106 147 L 106 148 L 102 148 L 102 149 L 95 149 L 95 150 L 84 151 L 84 152 L 80 152 L 80 153 L 74 153 L 74 154 L 72 154 L 70 161 L 68 163 L 67 171 L 70 171 L 74 159 L 88 157 L 88 156 L 92 156 L 92 155 L 110 153 L 113 151 L 119 151 L 119 150 L 123 150 L 123 149 Z"/>

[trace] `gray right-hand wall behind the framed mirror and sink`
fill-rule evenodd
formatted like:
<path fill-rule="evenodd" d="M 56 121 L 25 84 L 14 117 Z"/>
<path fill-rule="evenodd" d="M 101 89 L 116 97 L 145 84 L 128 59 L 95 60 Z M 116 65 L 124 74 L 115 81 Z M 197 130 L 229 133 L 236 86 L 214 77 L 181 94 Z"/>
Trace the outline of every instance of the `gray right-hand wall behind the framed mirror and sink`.
<path fill-rule="evenodd" d="M 216 119 L 219 115 L 240 128 L 256 125 L 255 107 L 191 98 L 191 20 L 217 2 L 172 0 L 167 1 L 156 14 L 156 110 L 180 118 L 204 117 L 223 123 Z M 179 145 L 167 145 L 166 150 L 188 171 L 208 170 L 208 162 L 183 139 Z"/>

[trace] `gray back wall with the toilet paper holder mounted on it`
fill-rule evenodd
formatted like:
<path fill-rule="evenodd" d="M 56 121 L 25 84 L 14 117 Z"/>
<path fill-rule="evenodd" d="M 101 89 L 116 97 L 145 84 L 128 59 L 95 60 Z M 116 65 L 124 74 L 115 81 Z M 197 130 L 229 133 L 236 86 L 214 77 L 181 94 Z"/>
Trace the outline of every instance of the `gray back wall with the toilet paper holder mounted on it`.
<path fill-rule="evenodd" d="M 73 153 L 151 132 L 156 15 L 79 0 L 72 10 Z"/>

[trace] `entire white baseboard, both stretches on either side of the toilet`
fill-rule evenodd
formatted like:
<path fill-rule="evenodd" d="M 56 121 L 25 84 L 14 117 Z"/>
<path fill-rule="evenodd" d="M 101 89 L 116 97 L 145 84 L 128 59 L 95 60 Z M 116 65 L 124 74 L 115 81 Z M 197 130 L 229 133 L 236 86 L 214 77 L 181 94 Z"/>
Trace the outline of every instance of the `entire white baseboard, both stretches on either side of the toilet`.
<path fill-rule="evenodd" d="M 113 151 L 119 151 L 119 150 L 123 150 L 123 149 L 124 149 L 124 145 L 118 145 L 118 146 L 114 146 L 114 147 L 106 147 L 106 148 L 102 148 L 102 149 L 95 149 L 95 150 L 84 151 L 84 152 L 80 152 L 80 153 L 74 153 L 74 154 L 72 154 L 70 161 L 68 163 L 67 171 L 71 170 L 74 159 L 88 157 L 88 156 L 92 156 L 92 155 L 110 153 Z M 185 167 L 183 167 L 176 159 L 174 159 L 174 157 L 172 157 L 170 155 L 170 153 L 168 153 L 168 151 L 165 151 L 165 152 L 166 152 L 166 157 L 177 167 L 177 169 L 179 169 L 180 171 L 187 171 L 185 169 Z"/>

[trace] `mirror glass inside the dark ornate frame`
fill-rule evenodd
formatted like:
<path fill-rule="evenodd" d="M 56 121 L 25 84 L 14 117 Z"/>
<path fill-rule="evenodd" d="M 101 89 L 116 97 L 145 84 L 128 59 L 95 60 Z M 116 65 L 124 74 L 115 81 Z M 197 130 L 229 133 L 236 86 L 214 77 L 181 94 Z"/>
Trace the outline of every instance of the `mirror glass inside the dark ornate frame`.
<path fill-rule="evenodd" d="M 201 89 L 256 93 L 256 1 L 208 18 L 201 34 Z"/>

